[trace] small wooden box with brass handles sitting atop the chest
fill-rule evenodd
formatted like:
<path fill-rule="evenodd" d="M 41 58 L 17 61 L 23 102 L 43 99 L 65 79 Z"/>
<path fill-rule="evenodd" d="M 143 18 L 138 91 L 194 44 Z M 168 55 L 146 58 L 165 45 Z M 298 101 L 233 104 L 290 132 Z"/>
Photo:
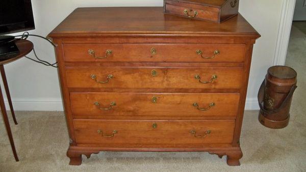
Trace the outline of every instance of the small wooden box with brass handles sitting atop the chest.
<path fill-rule="evenodd" d="M 164 13 L 220 23 L 238 14 L 239 0 L 164 0 Z"/>

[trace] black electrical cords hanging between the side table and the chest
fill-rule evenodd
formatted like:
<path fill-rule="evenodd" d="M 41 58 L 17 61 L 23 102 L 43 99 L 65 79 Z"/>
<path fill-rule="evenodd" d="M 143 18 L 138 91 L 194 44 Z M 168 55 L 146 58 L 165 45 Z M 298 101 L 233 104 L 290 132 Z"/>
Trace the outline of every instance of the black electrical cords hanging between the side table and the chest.
<path fill-rule="evenodd" d="M 34 36 L 34 37 L 42 38 L 42 39 L 48 41 L 48 42 L 49 42 L 50 44 L 52 44 L 54 47 L 56 47 L 56 45 L 55 45 L 52 41 L 48 40 L 47 38 L 44 38 L 44 37 L 39 36 L 39 35 L 29 34 L 29 32 L 24 32 L 22 35 L 17 35 L 17 36 L 15 36 L 15 37 L 20 37 L 20 38 L 14 39 L 13 41 L 18 40 L 18 39 L 26 40 L 26 39 L 28 39 L 29 36 Z M 29 60 L 32 60 L 32 61 L 34 61 L 34 62 L 43 64 L 43 65 L 45 65 L 45 66 L 51 66 L 51 67 L 54 67 L 54 68 L 58 68 L 58 66 L 55 66 L 58 62 L 53 63 L 53 64 L 50 64 L 50 63 L 47 62 L 47 61 L 43 61 L 43 60 L 39 59 L 38 56 L 37 56 L 37 54 L 36 54 L 36 51 L 35 51 L 34 47 L 33 47 L 33 52 L 34 52 L 34 55 L 35 55 L 35 57 L 36 57 L 36 59 L 37 59 L 38 61 L 37 61 L 37 60 L 34 60 L 34 59 L 32 59 L 32 58 L 29 58 L 29 57 L 26 56 L 26 55 L 25 55 L 25 58 L 27 58 L 27 59 L 29 59 Z"/>

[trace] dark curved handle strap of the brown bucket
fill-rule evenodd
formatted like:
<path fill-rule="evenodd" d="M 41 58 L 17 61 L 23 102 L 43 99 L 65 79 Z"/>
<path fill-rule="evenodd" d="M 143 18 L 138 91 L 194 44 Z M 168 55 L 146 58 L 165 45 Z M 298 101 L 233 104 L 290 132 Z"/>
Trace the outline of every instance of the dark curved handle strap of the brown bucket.
<path fill-rule="evenodd" d="M 265 95 L 265 80 L 263 81 L 263 83 L 260 86 L 259 92 L 258 92 L 258 104 L 260 109 L 266 113 L 266 114 L 272 114 L 272 113 L 277 113 L 279 112 L 281 109 L 283 109 L 285 107 L 285 105 L 287 104 L 287 102 L 290 100 L 291 96 L 293 95 L 295 89 L 297 88 L 296 85 L 293 85 L 291 87 L 291 90 L 289 92 L 289 94 L 287 95 L 287 97 L 285 98 L 285 100 L 283 101 L 283 103 L 281 104 L 281 106 L 279 106 L 277 109 L 273 109 L 273 110 L 267 110 L 264 108 L 263 102 L 264 102 L 264 95 Z"/>

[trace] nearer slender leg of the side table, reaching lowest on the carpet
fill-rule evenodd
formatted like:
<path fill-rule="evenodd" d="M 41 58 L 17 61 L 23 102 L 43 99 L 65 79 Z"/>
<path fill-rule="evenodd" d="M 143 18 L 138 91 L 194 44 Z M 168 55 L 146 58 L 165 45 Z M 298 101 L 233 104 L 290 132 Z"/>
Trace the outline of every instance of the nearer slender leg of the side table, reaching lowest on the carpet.
<path fill-rule="evenodd" d="M 11 144 L 11 147 L 12 147 L 12 150 L 13 150 L 13 154 L 14 154 L 15 160 L 19 161 L 17 153 L 16 153 L 15 145 L 14 145 L 13 135 L 12 135 L 9 119 L 8 119 L 8 114 L 6 112 L 6 108 L 5 108 L 5 104 L 4 104 L 4 99 L 3 99 L 3 94 L 2 94 L 1 88 L 0 88 L 0 107 L 1 107 L 4 124 L 5 124 L 6 130 L 7 130 L 9 139 L 10 139 L 10 144 Z"/>

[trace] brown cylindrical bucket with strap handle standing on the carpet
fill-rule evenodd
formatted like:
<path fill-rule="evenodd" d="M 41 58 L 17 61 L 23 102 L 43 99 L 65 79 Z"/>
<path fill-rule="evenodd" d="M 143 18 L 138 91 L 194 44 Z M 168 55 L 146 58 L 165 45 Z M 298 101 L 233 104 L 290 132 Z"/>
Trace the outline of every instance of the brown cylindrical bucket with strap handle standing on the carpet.
<path fill-rule="evenodd" d="M 296 86 L 297 73 L 287 66 L 273 66 L 268 69 L 259 93 L 259 121 L 262 125 L 279 129 L 288 125 L 290 106 Z"/>

